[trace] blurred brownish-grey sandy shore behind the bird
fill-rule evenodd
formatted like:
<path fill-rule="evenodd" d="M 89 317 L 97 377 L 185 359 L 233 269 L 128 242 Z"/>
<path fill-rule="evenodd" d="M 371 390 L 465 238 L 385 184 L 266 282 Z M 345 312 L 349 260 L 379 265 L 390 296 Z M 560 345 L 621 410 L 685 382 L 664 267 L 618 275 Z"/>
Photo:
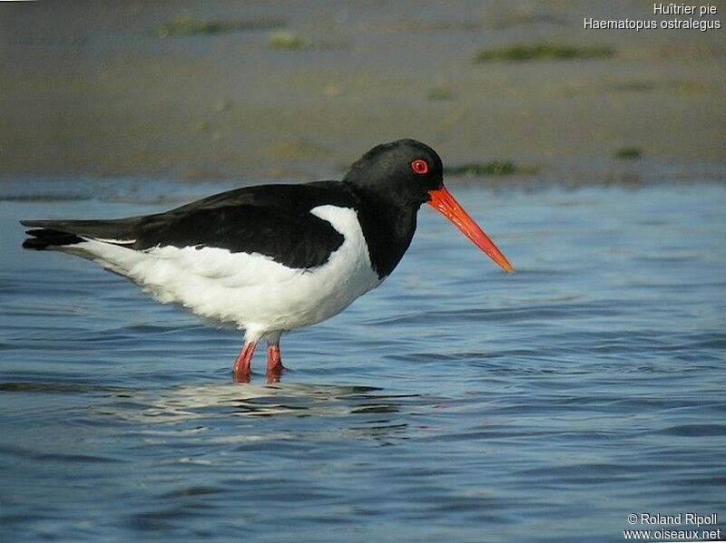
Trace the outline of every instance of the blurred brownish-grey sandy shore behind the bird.
<path fill-rule="evenodd" d="M 184 13 L 245 28 L 160 37 Z M 319 177 L 401 137 L 451 164 L 726 162 L 726 29 L 584 17 L 659 19 L 638 1 L 2 3 L 0 175 Z M 614 54 L 473 62 L 540 41 Z"/>

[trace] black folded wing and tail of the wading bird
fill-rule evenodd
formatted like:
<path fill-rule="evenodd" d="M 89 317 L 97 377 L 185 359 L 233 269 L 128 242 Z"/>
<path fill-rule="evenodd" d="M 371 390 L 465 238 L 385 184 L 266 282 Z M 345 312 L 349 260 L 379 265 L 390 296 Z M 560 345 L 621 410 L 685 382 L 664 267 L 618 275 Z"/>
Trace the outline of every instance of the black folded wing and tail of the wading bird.
<path fill-rule="evenodd" d="M 343 183 L 262 185 L 234 189 L 165 213 L 112 220 L 24 220 L 34 238 L 24 247 L 64 247 L 93 238 L 123 247 L 219 247 L 260 253 L 288 267 L 316 267 L 343 243 L 326 220 L 310 213 L 332 204 L 357 208 Z"/>

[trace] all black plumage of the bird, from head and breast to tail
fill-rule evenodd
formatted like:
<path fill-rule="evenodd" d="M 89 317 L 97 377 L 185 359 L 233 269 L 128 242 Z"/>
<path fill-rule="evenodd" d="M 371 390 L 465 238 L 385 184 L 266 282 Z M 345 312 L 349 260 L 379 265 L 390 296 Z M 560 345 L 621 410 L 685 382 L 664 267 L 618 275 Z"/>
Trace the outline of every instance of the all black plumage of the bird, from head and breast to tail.
<path fill-rule="evenodd" d="M 411 160 L 425 160 L 418 175 Z M 379 145 L 356 161 L 343 181 L 260 185 L 200 199 L 165 213 L 113 220 L 24 220 L 33 238 L 23 247 L 68 247 L 98 238 L 136 250 L 219 247 L 260 253 L 288 267 L 318 267 L 343 243 L 332 225 L 310 213 L 333 205 L 358 212 L 370 262 L 388 276 L 416 230 L 417 210 L 429 191 L 443 186 L 441 159 L 423 143 Z"/>

